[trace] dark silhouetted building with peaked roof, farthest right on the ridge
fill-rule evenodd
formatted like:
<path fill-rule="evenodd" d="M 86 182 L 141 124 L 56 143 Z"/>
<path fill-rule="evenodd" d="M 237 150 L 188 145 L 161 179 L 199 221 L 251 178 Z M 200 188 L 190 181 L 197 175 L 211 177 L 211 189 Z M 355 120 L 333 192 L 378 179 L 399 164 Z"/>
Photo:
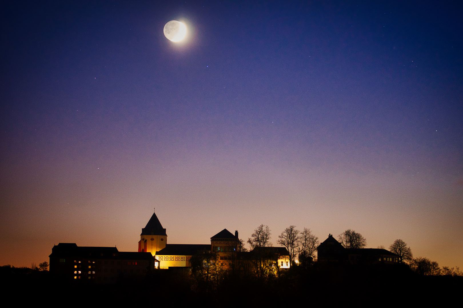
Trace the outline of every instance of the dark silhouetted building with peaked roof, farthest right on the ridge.
<path fill-rule="evenodd" d="M 380 248 L 344 248 L 330 234 L 317 248 L 318 263 L 327 265 L 369 265 L 394 264 L 399 262 L 399 255 Z"/>

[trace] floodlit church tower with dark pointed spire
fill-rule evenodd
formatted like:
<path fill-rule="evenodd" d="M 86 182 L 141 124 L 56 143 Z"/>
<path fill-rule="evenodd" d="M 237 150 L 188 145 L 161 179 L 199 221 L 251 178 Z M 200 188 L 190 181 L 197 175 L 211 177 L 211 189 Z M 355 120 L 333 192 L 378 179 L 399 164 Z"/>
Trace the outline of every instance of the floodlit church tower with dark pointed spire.
<path fill-rule="evenodd" d="M 153 213 L 146 227 L 142 228 L 140 242 L 138 242 L 138 252 L 147 252 L 154 256 L 157 251 L 165 248 L 166 244 L 166 229 L 157 219 L 156 213 Z"/>

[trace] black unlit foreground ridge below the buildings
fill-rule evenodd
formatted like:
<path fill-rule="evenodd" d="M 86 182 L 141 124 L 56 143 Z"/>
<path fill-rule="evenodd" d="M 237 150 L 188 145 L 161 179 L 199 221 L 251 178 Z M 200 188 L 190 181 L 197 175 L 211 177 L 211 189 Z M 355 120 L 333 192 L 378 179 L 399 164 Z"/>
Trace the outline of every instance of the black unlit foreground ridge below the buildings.
<path fill-rule="evenodd" d="M 421 276 L 403 264 L 351 266 L 282 271 L 278 278 L 257 279 L 225 275 L 219 284 L 201 284 L 189 271 L 159 270 L 142 279 L 120 279 L 117 284 L 78 284 L 56 280 L 49 272 L 2 266 L 0 279 L 7 297 L 22 302 L 117 305 L 152 299 L 156 304 L 262 307 L 289 303 L 375 304 L 386 306 L 453 301 L 463 290 L 463 277 Z M 214 285 L 215 287 L 211 287 Z M 150 300 L 151 301 L 151 300 Z M 394 305 L 395 306 L 395 305 Z"/>

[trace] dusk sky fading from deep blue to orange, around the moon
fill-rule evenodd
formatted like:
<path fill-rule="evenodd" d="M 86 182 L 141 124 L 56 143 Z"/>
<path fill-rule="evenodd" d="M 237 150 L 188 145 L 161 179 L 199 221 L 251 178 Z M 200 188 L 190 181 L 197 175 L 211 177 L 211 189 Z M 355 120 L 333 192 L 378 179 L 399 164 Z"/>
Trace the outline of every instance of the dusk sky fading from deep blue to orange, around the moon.
<path fill-rule="evenodd" d="M 0 265 L 263 223 L 463 267 L 459 1 L 12 1 Z M 163 35 L 188 27 L 182 42 Z"/>

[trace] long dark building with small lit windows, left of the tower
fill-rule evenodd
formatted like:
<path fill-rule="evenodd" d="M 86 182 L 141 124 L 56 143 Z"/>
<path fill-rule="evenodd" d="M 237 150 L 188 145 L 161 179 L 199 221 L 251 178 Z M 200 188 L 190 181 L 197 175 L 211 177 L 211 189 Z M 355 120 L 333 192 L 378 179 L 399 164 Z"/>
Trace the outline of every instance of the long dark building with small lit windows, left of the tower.
<path fill-rule="evenodd" d="M 115 283 L 121 278 L 142 278 L 157 263 L 150 253 L 59 243 L 51 249 L 50 274 L 63 280 Z"/>

